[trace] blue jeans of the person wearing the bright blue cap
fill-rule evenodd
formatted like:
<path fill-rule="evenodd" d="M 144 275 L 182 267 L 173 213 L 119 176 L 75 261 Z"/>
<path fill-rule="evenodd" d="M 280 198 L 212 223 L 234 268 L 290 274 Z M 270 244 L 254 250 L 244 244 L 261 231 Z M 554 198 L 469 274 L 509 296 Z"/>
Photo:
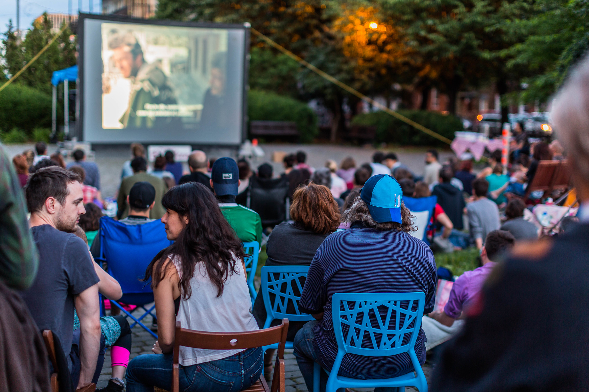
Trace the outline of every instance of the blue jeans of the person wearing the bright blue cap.
<path fill-rule="evenodd" d="M 294 356 L 296 357 L 297 364 L 299 364 L 300 373 L 302 373 L 303 378 L 305 378 L 305 384 L 307 384 L 307 390 L 309 390 L 309 392 L 314 392 L 313 367 L 315 366 L 315 362 L 319 363 L 319 360 L 317 360 L 317 352 L 315 351 L 315 346 L 313 345 L 313 341 L 315 341 L 315 333 L 313 333 L 313 328 L 318 323 L 319 320 L 313 320 L 306 323 L 305 326 L 303 326 L 303 328 L 297 332 L 293 341 Z M 325 373 L 322 368 L 321 378 L 319 381 L 319 392 L 325 392 L 326 385 L 327 373 Z M 374 392 L 393 392 L 396 390 L 398 390 L 398 388 L 374 388 Z"/>

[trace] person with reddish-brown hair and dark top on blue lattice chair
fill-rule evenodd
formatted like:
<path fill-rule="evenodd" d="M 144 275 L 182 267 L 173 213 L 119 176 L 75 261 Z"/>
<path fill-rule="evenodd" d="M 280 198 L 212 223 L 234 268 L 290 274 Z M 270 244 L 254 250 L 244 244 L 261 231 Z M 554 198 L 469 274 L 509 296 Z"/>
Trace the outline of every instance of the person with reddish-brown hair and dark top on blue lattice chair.
<path fill-rule="evenodd" d="M 299 186 L 293 195 L 290 206 L 290 219 L 294 222 L 282 222 L 274 227 L 268 243 L 266 253 L 267 266 L 308 266 L 311 264 L 320 244 L 337 230 L 340 223 L 340 213 L 337 203 L 326 186 L 310 183 Z M 304 283 L 304 282 L 302 282 Z M 296 287 L 293 286 L 296 290 Z M 300 293 L 295 293 L 299 295 Z M 274 295 L 270 294 L 270 301 Z M 294 306 L 289 304 L 290 313 L 294 313 Z M 266 322 L 266 308 L 262 293 L 258 293 L 253 307 L 260 328 Z M 290 321 L 289 333 L 286 340 L 292 341 L 296 333 L 306 321 Z M 280 325 L 280 320 L 274 320 L 270 326 Z M 264 376 L 269 380 L 272 371 L 272 357 L 274 350 L 266 351 L 264 361 Z"/>

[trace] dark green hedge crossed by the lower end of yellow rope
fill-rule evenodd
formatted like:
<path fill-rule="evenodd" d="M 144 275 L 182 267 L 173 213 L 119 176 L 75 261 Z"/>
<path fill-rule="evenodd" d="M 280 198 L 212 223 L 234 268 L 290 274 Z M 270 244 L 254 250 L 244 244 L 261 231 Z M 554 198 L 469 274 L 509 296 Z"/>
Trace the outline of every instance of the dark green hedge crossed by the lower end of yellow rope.
<path fill-rule="evenodd" d="M 453 115 L 442 115 L 442 113 L 428 112 L 426 110 L 398 110 L 398 113 L 450 140 L 454 139 L 454 132 L 464 130 L 461 120 Z M 409 146 L 446 146 L 446 143 L 441 140 L 429 136 L 382 111 L 357 115 L 352 119 L 352 125 L 375 126 L 376 142 L 378 143 L 385 142 Z"/>

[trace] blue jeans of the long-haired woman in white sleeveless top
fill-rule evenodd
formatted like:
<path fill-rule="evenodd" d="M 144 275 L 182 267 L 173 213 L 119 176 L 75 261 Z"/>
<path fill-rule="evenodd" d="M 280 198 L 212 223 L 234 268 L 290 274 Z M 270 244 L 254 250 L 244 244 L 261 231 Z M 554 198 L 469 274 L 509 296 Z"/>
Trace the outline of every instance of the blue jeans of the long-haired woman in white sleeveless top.
<path fill-rule="evenodd" d="M 127 367 L 127 392 L 153 392 L 153 387 L 170 390 L 172 354 L 144 354 Z M 180 390 L 186 392 L 237 392 L 249 388 L 264 368 L 262 347 L 192 366 L 180 365 Z"/>

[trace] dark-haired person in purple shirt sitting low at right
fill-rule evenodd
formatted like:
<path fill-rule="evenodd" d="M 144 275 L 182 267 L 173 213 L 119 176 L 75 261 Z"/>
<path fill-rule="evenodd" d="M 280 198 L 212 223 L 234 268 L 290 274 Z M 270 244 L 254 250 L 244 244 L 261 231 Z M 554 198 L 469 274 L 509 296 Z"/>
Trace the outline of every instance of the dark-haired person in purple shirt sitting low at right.
<path fill-rule="evenodd" d="M 450 297 L 443 311 L 432 311 L 422 319 L 422 328 L 428 337 L 428 350 L 449 340 L 462 327 L 463 311 L 475 302 L 485 280 L 497 262 L 515 245 L 515 238 L 504 230 L 487 234 L 481 250 L 482 266 L 466 271 L 452 285 Z M 459 321 L 458 323 L 456 321 Z M 454 328 L 451 328 L 454 327 Z"/>

